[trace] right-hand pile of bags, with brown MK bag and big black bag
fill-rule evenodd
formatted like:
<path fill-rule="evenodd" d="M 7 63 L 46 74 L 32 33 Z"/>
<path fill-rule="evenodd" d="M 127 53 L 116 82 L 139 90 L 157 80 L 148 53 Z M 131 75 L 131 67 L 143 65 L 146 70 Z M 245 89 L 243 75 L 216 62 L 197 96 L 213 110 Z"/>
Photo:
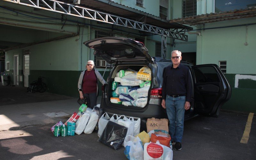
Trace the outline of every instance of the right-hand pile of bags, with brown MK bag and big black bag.
<path fill-rule="evenodd" d="M 113 149 L 124 146 L 124 155 L 128 159 L 172 159 L 168 119 L 148 119 L 147 132 L 140 132 L 140 119 L 133 117 L 109 117 L 104 113 L 99 119 L 99 142 Z"/>

